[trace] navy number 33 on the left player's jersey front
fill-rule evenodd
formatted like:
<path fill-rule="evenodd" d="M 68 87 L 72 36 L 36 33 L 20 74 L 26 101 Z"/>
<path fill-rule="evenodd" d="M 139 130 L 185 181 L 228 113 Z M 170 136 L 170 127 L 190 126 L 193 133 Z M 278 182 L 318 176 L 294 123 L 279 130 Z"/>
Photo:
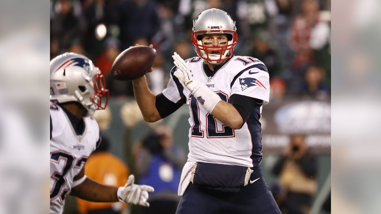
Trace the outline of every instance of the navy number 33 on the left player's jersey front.
<path fill-rule="evenodd" d="M 51 161 L 53 161 L 54 163 L 59 163 L 60 159 L 64 160 L 65 164 L 64 164 L 64 167 L 62 169 L 62 172 L 54 172 L 52 175 L 53 179 L 56 180 L 56 182 L 54 183 L 52 189 L 50 190 L 50 200 L 53 200 L 58 195 L 58 193 L 61 191 L 62 186 L 67 182 L 65 176 L 66 176 L 67 172 L 69 171 L 69 169 L 72 167 L 73 161 L 74 161 L 74 157 L 68 153 L 65 153 L 62 151 L 51 153 L 51 155 L 50 155 Z M 82 163 L 85 163 L 86 160 L 87 160 L 87 158 L 85 158 L 85 157 L 80 158 L 77 161 L 77 163 L 75 164 L 75 167 L 80 168 Z M 60 196 L 61 201 L 63 201 L 65 199 L 65 196 L 69 191 L 70 190 L 68 190 L 68 189 L 62 191 L 62 194 Z"/>

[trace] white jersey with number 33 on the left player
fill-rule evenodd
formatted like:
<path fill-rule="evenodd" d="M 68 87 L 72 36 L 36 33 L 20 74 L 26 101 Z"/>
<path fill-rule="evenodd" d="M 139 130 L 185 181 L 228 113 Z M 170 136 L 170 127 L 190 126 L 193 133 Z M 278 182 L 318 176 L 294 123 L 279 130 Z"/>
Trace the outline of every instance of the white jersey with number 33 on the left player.
<path fill-rule="evenodd" d="M 84 117 L 85 128 L 77 134 L 59 105 L 50 102 L 50 213 L 63 211 L 65 196 L 74 177 L 100 144 L 99 126 L 93 117 Z"/>

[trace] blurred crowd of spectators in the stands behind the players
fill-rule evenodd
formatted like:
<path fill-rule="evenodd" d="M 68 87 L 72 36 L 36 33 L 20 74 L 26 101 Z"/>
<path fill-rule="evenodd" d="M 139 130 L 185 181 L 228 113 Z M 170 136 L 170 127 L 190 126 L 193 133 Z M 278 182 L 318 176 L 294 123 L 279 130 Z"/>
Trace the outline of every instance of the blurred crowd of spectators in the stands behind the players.
<path fill-rule="evenodd" d="M 110 78 L 111 65 L 129 46 L 153 44 L 157 57 L 147 78 L 158 94 L 173 52 L 196 56 L 192 20 L 219 8 L 236 21 L 234 54 L 267 66 L 272 101 L 289 94 L 322 100 L 330 94 L 330 6 L 330 0 L 51 0 L 50 53 L 85 54 L 105 74 L 110 96 L 132 98 L 131 82 Z"/>

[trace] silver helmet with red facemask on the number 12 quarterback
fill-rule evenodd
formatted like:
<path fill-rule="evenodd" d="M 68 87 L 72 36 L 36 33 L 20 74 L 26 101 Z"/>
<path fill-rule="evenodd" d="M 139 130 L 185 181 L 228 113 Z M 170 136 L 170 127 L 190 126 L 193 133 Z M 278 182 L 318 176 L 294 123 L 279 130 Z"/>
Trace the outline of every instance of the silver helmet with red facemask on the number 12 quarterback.
<path fill-rule="evenodd" d="M 208 9 L 200 13 L 193 20 L 192 44 L 198 56 L 213 64 L 229 59 L 233 55 L 233 48 L 237 44 L 238 36 L 235 21 L 223 10 L 216 8 Z M 227 34 L 227 45 L 218 46 L 220 54 L 208 54 L 208 51 L 216 51 L 216 47 L 205 46 L 201 42 L 203 34 Z"/>

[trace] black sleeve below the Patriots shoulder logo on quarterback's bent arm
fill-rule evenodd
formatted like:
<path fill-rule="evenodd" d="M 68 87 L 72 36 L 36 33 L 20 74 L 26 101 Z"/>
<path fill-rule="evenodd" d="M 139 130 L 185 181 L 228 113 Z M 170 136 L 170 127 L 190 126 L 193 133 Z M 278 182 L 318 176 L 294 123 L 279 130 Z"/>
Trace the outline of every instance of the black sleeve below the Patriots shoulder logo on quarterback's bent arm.
<path fill-rule="evenodd" d="M 248 97 L 241 94 L 232 94 L 229 98 L 229 103 L 232 104 L 234 108 L 237 109 L 238 113 L 241 115 L 243 125 L 246 123 L 251 113 L 253 113 L 254 106 L 262 105 L 263 100 Z"/>

